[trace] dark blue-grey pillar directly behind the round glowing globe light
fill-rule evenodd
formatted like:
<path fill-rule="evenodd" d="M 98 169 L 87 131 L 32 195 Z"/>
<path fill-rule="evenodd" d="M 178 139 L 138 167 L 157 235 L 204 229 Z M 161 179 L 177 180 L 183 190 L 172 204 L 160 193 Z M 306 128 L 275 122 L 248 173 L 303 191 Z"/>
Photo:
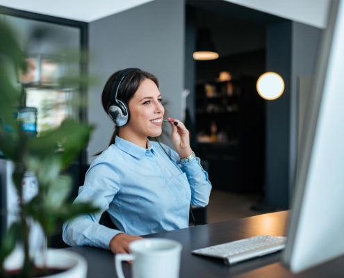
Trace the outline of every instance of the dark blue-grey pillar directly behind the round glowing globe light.
<path fill-rule="evenodd" d="M 265 197 L 268 204 L 288 208 L 290 73 L 292 22 L 267 28 L 266 71 L 284 79 L 283 95 L 266 103 Z"/>

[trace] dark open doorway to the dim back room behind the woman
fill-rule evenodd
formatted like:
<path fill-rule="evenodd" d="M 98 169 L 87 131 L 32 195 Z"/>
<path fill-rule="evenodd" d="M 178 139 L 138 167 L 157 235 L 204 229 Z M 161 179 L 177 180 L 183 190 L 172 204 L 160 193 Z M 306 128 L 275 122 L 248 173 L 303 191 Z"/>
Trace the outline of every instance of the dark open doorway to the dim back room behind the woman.
<path fill-rule="evenodd" d="M 281 20 L 227 1 L 186 1 L 186 125 L 213 185 L 208 222 L 220 211 L 228 211 L 221 220 L 259 214 L 250 209 L 264 199 L 265 100 L 256 81 L 265 72 L 266 26 Z M 204 29 L 215 60 L 193 59 Z"/>

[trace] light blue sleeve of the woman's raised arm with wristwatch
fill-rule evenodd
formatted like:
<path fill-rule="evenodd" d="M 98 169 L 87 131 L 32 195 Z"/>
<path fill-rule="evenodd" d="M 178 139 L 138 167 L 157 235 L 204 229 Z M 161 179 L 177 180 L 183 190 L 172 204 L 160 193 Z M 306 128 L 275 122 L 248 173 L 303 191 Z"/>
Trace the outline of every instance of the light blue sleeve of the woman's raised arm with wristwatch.
<path fill-rule="evenodd" d="M 191 204 L 193 206 L 206 206 L 209 202 L 212 186 L 208 179 L 208 173 L 202 168 L 201 160 L 195 157 L 189 162 L 179 163 L 177 152 L 174 152 L 166 145 L 164 147 L 168 150 L 172 161 L 179 165 L 181 170 L 186 173 L 191 189 Z"/>

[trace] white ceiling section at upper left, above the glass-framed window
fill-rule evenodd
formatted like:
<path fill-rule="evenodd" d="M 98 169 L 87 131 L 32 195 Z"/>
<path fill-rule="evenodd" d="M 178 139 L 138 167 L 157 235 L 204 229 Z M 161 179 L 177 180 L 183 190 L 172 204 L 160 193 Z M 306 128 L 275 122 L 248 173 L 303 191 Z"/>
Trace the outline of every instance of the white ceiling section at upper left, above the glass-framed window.
<path fill-rule="evenodd" d="M 92 22 L 153 0 L 1 0 L 0 5 L 32 13 Z"/>

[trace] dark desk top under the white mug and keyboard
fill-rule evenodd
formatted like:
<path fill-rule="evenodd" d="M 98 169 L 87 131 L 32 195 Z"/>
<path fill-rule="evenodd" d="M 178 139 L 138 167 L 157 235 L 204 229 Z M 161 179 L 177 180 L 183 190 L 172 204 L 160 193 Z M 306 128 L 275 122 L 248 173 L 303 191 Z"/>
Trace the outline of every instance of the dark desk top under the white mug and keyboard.
<path fill-rule="evenodd" d="M 176 231 L 151 234 L 145 238 L 171 238 L 183 244 L 180 278 L 254 277 L 254 278 L 317 278 L 344 277 L 344 256 L 298 275 L 291 274 L 280 263 L 280 253 L 262 256 L 238 265 L 226 266 L 222 260 L 191 254 L 192 250 L 227 243 L 261 234 L 284 236 L 288 211 L 207 224 Z M 69 250 L 85 256 L 88 278 L 116 277 L 113 254 L 95 247 L 73 247 Z M 129 263 L 123 263 L 124 275 L 131 277 Z M 163 278 L 163 277 L 162 277 Z"/>

